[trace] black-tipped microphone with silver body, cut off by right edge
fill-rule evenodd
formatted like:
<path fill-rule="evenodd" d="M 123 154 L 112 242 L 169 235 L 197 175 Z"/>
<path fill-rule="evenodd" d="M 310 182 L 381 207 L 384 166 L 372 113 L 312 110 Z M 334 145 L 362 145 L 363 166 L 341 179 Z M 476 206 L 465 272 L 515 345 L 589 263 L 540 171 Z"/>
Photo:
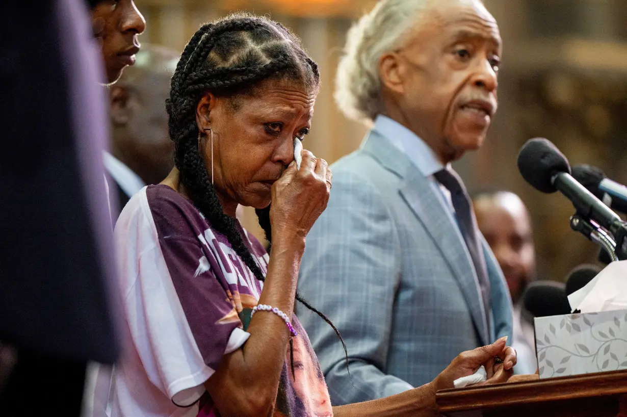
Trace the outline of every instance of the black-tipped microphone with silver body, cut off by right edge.
<path fill-rule="evenodd" d="M 607 206 L 627 214 L 627 187 L 606 177 L 601 169 L 586 164 L 577 165 L 572 167 L 572 177 Z"/>

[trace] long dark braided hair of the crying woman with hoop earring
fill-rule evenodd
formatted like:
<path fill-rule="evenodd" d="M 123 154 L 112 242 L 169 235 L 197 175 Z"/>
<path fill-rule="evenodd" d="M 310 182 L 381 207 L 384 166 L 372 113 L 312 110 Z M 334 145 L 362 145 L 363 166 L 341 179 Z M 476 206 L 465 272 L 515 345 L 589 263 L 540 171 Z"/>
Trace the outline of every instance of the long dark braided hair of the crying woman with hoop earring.
<path fill-rule="evenodd" d="M 250 14 L 231 14 L 206 23 L 187 43 L 172 76 L 170 98 L 166 100 L 169 134 L 174 141 L 174 164 L 189 198 L 206 221 L 228 239 L 255 277 L 263 281 L 261 268 L 246 247 L 236 220 L 224 214 L 211 176 L 198 150 L 196 105 L 202 95 L 231 98 L 251 94 L 268 80 L 290 80 L 319 88 L 320 74 L 314 60 L 300 46 L 300 40 L 282 24 Z M 270 209 L 256 210 L 266 238 L 271 241 Z M 327 322 L 344 340 L 335 325 L 298 293 L 296 299 Z"/>

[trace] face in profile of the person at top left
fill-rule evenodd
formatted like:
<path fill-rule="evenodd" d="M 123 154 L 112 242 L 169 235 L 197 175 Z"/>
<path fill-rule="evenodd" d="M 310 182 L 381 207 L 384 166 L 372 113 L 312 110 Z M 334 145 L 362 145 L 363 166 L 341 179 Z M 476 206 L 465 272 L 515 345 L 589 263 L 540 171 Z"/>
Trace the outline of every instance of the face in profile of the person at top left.
<path fill-rule="evenodd" d="M 107 83 L 113 83 L 125 66 L 135 63 L 139 51 L 137 36 L 146 21 L 133 0 L 103 0 L 92 9 L 92 26 L 102 46 Z"/>

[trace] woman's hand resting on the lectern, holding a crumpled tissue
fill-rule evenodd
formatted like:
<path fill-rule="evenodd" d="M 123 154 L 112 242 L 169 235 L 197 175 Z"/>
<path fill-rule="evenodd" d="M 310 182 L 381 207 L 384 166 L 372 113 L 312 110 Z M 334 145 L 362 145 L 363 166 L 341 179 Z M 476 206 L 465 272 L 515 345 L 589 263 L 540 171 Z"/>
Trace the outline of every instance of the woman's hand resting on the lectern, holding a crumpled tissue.
<path fill-rule="evenodd" d="M 507 382 L 514 374 L 517 357 L 514 348 L 506 344 L 507 338 L 502 337 L 491 345 L 462 352 L 433 380 L 435 390 L 453 388 L 455 379 L 474 374 L 482 365 L 487 373 L 487 381 L 472 386 Z"/>

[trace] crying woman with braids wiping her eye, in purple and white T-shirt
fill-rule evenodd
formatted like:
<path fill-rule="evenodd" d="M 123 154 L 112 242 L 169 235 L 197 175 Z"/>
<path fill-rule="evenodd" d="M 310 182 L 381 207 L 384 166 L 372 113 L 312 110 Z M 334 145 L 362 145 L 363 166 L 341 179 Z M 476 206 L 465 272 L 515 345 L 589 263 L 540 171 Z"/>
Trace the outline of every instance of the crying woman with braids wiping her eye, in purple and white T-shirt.
<path fill-rule="evenodd" d="M 298 167 L 294 157 L 318 90 L 315 62 L 269 19 L 229 16 L 187 44 L 167 102 L 176 167 L 135 195 L 115 228 L 127 337 L 112 416 L 426 416 L 437 389 L 494 356 L 507 369 L 488 367 L 490 382 L 510 375 L 515 352 L 500 340 L 423 387 L 330 406 L 293 314 L 305 239 L 331 189 L 324 159 L 302 150 Z M 238 204 L 270 206 L 260 219 L 269 256 L 236 220 Z"/>

